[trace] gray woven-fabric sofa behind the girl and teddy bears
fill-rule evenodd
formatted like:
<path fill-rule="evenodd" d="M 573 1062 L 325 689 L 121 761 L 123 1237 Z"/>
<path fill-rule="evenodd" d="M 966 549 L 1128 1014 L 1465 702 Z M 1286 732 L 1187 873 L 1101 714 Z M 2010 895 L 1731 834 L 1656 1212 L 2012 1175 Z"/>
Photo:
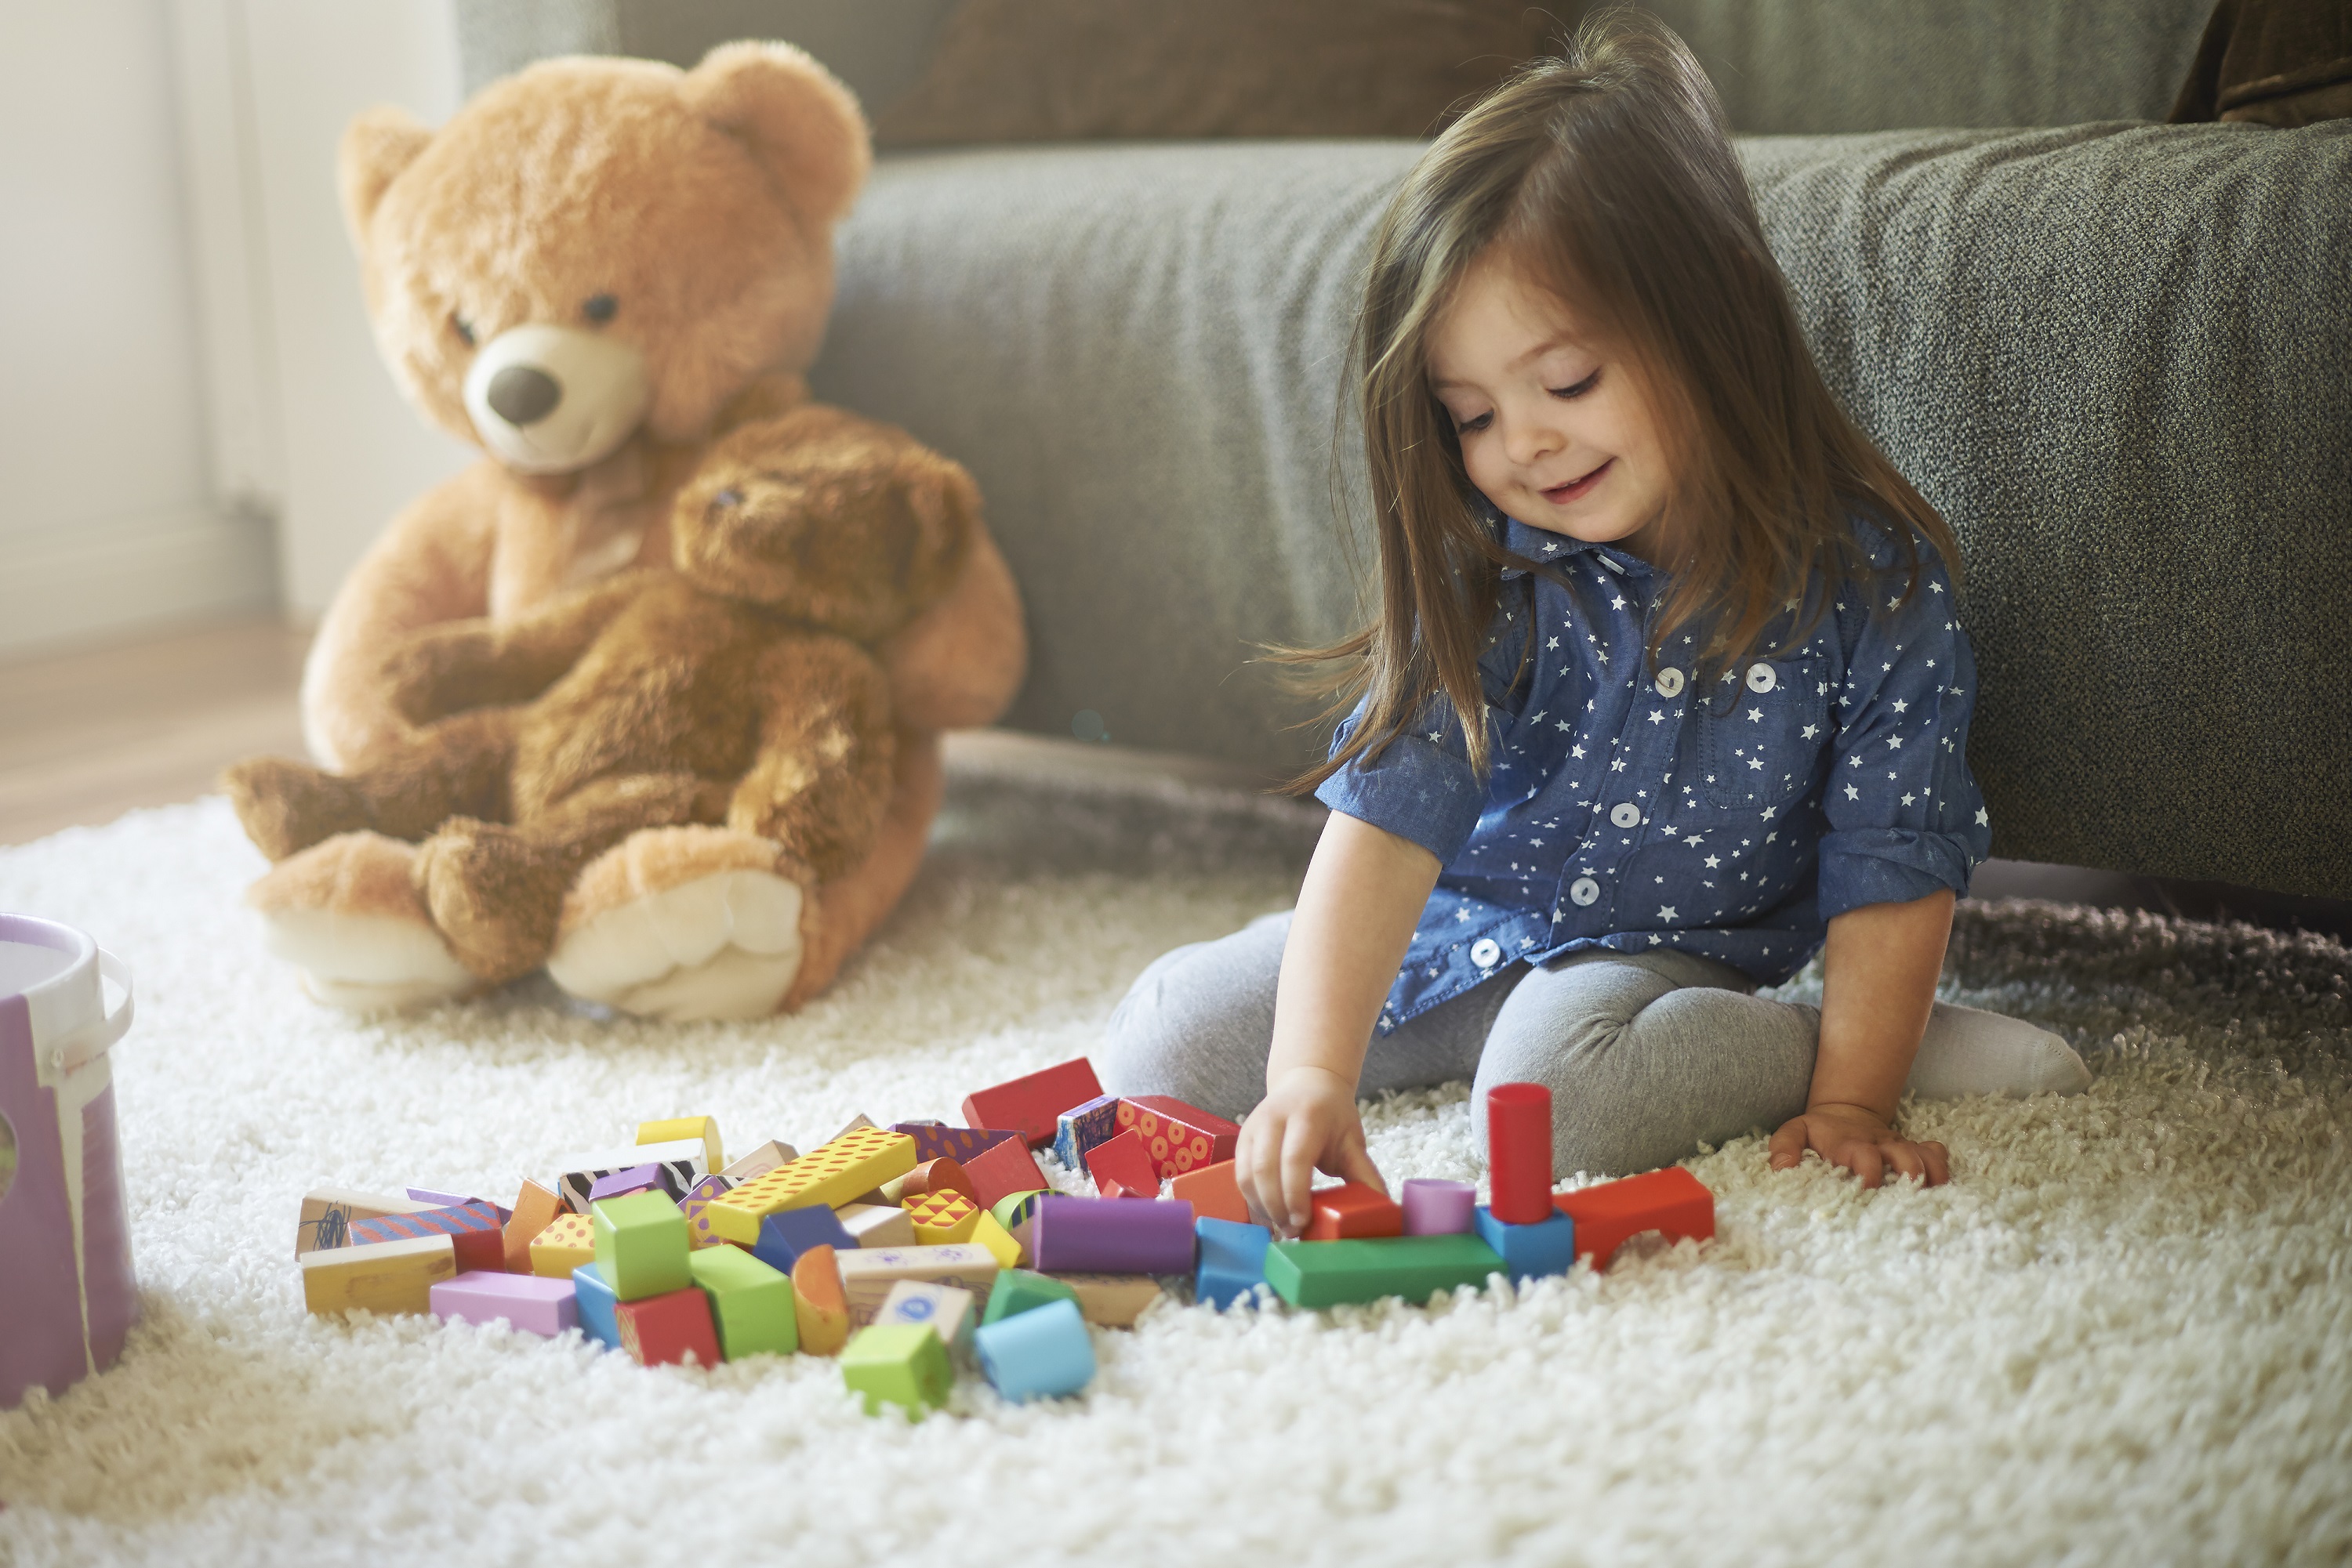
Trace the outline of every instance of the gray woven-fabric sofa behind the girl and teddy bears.
<path fill-rule="evenodd" d="M 946 9 L 459 14 L 473 82 L 779 35 L 882 101 Z M 1959 531 L 1994 853 L 2352 898 L 2352 122 L 2154 125 L 2204 0 L 1656 9 L 1724 92 L 1830 383 Z M 814 381 L 978 477 L 1035 632 L 1009 724 L 1319 755 L 1249 654 L 1355 616 L 1341 362 L 1416 150 L 880 162 Z"/>

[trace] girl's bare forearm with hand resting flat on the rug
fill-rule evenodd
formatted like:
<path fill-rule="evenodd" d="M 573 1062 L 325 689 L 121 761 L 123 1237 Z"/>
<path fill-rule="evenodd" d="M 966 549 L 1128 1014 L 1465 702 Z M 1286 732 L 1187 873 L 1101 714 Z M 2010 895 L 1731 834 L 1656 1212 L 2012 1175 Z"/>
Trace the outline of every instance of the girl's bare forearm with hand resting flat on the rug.
<path fill-rule="evenodd" d="M 1865 1187 L 1877 1187 L 1889 1166 L 1929 1187 L 1950 1180 L 1940 1143 L 1910 1143 L 1893 1131 L 1950 936 L 1950 891 L 1912 903 L 1865 903 L 1830 919 L 1813 1091 L 1804 1114 L 1771 1135 L 1773 1171 L 1792 1168 L 1811 1147 Z"/>

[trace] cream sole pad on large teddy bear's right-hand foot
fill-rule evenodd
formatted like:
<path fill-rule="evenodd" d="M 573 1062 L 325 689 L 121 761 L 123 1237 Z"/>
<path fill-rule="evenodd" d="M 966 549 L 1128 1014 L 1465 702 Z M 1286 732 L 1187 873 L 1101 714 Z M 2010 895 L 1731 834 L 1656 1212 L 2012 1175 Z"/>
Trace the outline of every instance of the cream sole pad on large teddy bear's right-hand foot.
<path fill-rule="evenodd" d="M 720 870 L 567 919 L 548 973 L 644 1018 L 764 1018 L 800 976 L 802 903 L 771 870 Z"/>

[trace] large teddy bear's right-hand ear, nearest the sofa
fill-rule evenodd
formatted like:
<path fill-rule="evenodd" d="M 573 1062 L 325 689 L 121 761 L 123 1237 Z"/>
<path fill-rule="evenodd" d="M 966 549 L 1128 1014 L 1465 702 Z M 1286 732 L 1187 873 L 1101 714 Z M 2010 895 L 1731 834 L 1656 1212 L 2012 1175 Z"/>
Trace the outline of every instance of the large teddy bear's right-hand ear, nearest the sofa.
<path fill-rule="evenodd" d="M 873 167 L 866 110 L 807 49 L 720 45 L 687 73 L 687 101 L 739 136 L 786 197 L 821 223 L 849 212 Z"/>

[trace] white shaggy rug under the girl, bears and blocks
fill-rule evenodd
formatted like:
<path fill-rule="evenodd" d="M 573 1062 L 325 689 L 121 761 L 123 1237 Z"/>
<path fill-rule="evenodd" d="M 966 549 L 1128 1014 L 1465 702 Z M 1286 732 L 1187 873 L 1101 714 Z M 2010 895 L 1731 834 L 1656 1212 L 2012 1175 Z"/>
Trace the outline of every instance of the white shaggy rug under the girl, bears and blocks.
<path fill-rule="evenodd" d="M 0 1561 L 2145 1563 L 2352 1554 L 2352 959 L 2321 938 L 1966 905 L 1950 997 L 2067 1032 L 2077 1100 L 1912 1112 L 1950 1187 L 1691 1161 L 1708 1248 L 1517 1295 L 1098 1333 L 1073 1403 L 868 1420 L 830 1361 L 303 1316 L 313 1185 L 508 1194 L 644 1117 L 736 1147 L 1089 1051 L 1171 943 L 1287 903 L 1312 823 L 964 769 L 922 882 L 797 1018 L 517 990 L 393 1023 L 259 950 L 219 799 L 0 851 L 0 907 L 139 971 L 118 1048 L 146 1321 L 0 1415 Z M 1463 1088 L 1371 1114 L 1479 1173 Z M 0 1260 L 5 1267 L 5 1260 Z M 0 1326 L 5 1331 L 5 1326 Z"/>

